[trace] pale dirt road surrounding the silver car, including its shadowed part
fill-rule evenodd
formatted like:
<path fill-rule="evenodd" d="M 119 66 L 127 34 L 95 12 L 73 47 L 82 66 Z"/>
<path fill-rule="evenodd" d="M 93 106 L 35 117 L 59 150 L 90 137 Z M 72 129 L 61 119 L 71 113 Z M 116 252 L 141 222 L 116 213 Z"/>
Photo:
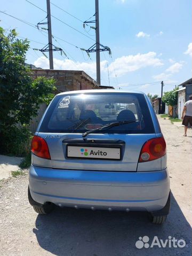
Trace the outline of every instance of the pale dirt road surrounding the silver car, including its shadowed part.
<path fill-rule="evenodd" d="M 163 226 L 147 214 L 57 209 L 48 216 L 33 211 L 27 175 L 0 182 L 0 254 L 11 255 L 191 255 L 192 131 L 159 118 L 167 142 L 172 189 L 171 213 Z M 139 237 L 184 239 L 186 246 L 137 249 Z"/>

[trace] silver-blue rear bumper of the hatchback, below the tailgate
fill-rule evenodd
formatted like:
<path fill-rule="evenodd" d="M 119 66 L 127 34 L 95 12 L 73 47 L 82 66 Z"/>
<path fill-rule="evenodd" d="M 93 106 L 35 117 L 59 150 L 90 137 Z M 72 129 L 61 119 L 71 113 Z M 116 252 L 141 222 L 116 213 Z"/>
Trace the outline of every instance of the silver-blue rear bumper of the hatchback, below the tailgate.
<path fill-rule="evenodd" d="M 169 197 L 167 170 L 103 172 L 62 170 L 31 165 L 29 190 L 33 200 L 76 208 L 158 211 Z"/>

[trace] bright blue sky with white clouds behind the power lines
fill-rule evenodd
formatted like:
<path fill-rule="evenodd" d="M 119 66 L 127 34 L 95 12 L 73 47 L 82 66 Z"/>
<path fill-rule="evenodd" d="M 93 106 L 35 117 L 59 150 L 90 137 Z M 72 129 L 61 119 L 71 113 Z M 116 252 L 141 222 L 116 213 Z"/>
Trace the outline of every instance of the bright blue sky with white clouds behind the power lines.
<path fill-rule="evenodd" d="M 49 54 L 37 50 L 47 44 L 47 25 L 35 27 L 46 22 L 46 0 L 0 2 L 0 11 L 31 25 L 0 12 L 1 27 L 29 39 L 26 62 L 49 68 Z M 81 50 L 95 43 L 94 23 L 83 27 L 94 13 L 94 0 L 51 0 L 53 45 L 63 50 L 53 52 L 54 69 L 84 70 L 96 79 L 95 53 L 89 58 Z M 191 0 L 99 0 L 99 19 L 100 43 L 111 49 L 100 53 L 102 85 L 161 95 L 161 81 L 165 92 L 191 78 Z"/>

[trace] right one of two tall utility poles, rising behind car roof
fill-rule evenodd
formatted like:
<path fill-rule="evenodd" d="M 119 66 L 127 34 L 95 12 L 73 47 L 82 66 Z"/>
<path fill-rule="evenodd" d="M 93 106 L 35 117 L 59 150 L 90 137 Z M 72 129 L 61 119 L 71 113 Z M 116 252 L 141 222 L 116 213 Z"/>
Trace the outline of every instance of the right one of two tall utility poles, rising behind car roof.
<path fill-rule="evenodd" d="M 95 35 L 96 35 L 97 83 L 100 85 L 101 70 L 100 70 L 100 42 L 99 42 L 99 0 L 95 0 Z"/>

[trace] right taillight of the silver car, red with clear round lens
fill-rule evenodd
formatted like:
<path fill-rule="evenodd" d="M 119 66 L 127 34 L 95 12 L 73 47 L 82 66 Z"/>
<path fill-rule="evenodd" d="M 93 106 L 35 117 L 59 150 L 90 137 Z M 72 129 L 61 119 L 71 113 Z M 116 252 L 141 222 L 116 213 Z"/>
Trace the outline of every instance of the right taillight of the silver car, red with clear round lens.
<path fill-rule="evenodd" d="M 141 149 L 139 163 L 158 159 L 166 154 L 166 143 L 163 137 L 150 139 Z"/>

